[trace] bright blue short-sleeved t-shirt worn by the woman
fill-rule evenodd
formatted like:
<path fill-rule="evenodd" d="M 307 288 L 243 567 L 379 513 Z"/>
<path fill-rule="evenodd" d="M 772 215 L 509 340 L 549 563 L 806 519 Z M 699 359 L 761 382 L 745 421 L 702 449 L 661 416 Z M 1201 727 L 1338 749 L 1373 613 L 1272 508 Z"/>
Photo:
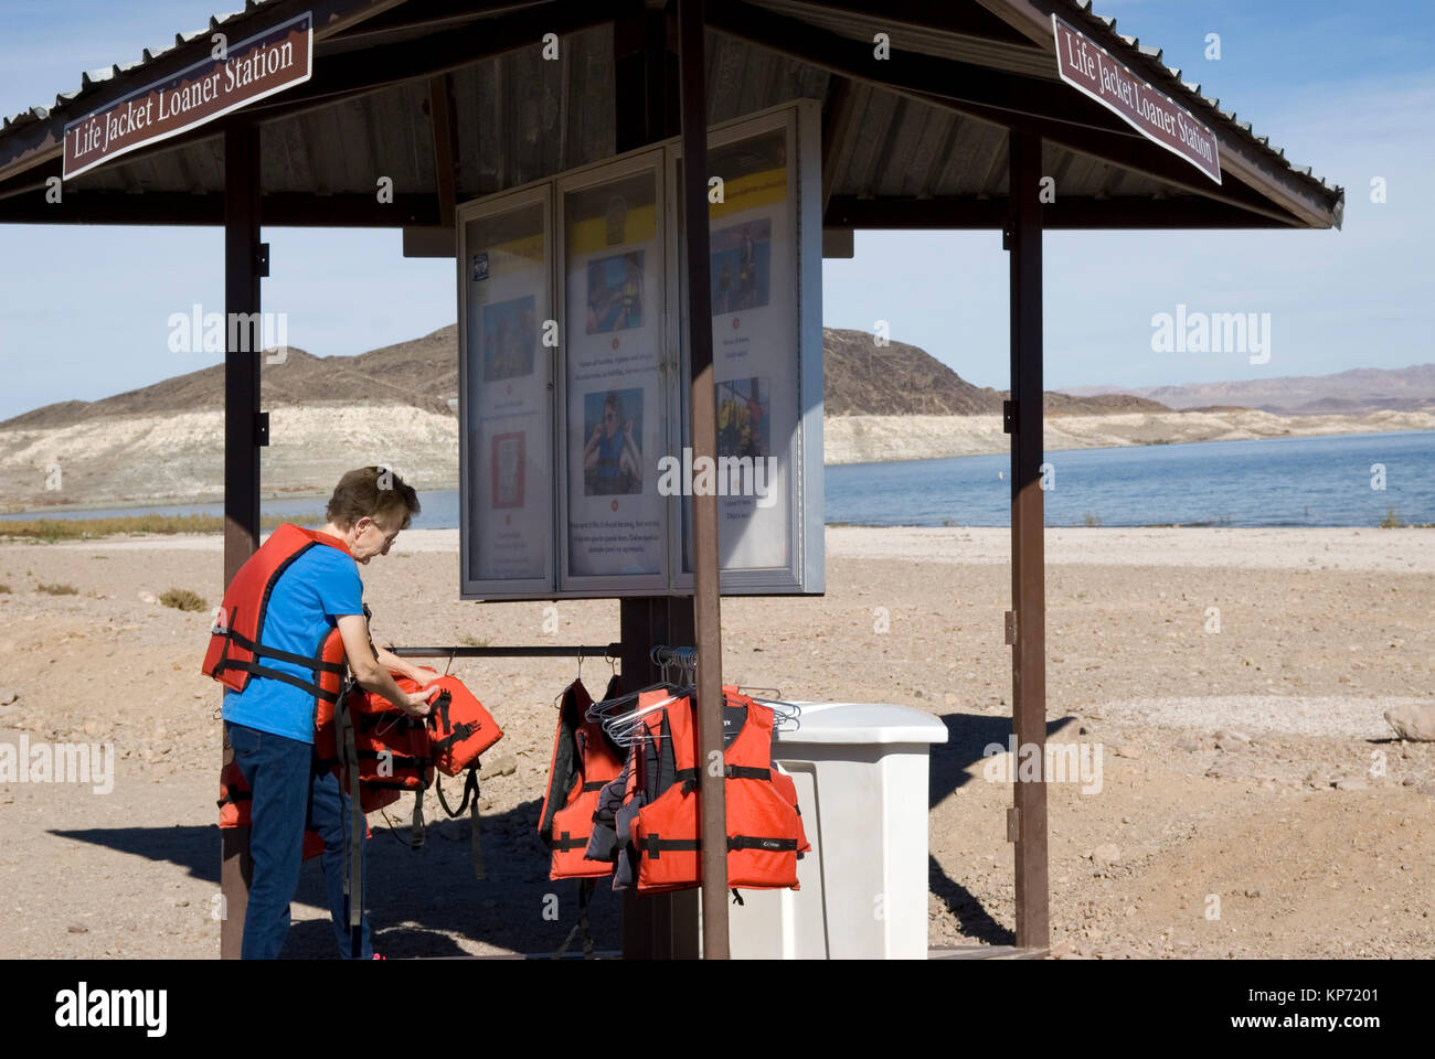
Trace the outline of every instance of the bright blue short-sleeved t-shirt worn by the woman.
<path fill-rule="evenodd" d="M 319 544 L 286 570 L 270 593 L 261 640 L 265 647 L 313 656 L 342 614 L 363 614 L 363 581 L 353 558 Z M 261 657 L 270 669 L 314 682 L 293 662 Z M 314 696 L 273 677 L 250 676 L 243 692 L 225 690 L 224 719 L 261 732 L 314 742 Z"/>

